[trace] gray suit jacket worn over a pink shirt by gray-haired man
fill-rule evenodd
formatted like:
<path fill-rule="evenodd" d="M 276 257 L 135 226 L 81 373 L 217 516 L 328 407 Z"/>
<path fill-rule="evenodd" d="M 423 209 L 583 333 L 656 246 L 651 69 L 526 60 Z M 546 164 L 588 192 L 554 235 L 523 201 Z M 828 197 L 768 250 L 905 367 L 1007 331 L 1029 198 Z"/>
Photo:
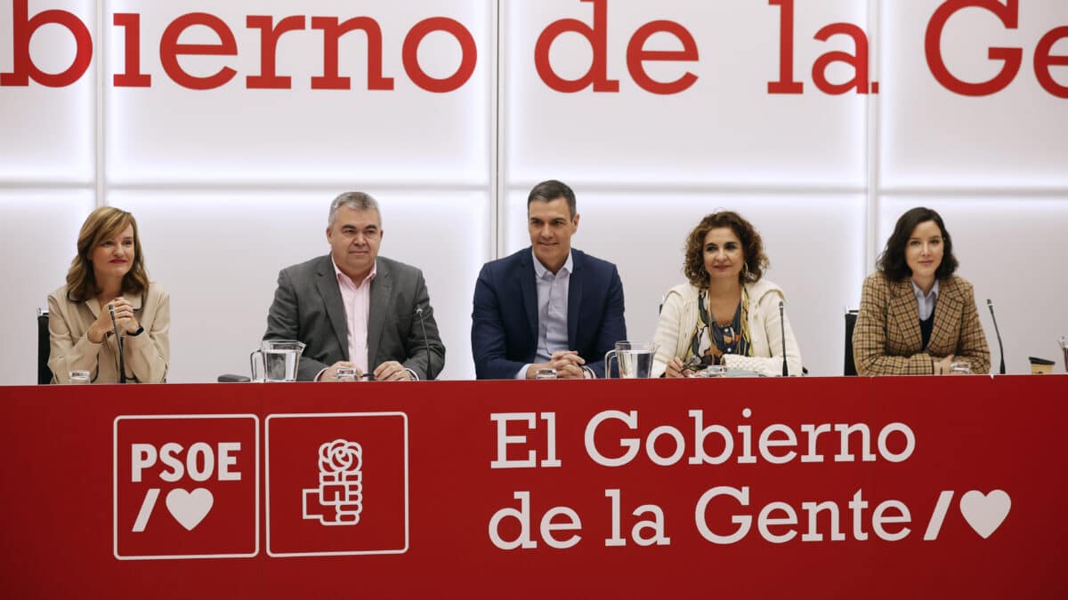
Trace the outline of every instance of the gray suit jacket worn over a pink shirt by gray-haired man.
<path fill-rule="evenodd" d="M 264 340 L 298 340 L 308 346 L 298 367 L 300 381 L 312 381 L 324 368 L 349 360 L 345 306 L 329 254 L 279 272 Z M 420 379 L 434 379 L 445 364 L 445 346 L 423 272 L 379 256 L 378 274 L 371 282 L 367 366 L 374 370 L 387 361 L 402 363 Z"/>

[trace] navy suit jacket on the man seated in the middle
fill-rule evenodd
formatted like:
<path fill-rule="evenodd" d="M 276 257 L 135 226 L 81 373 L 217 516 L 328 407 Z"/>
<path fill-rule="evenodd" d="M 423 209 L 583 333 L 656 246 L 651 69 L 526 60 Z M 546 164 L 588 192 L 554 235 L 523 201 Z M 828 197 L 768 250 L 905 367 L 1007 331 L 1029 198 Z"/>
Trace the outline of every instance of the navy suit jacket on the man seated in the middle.
<path fill-rule="evenodd" d="M 567 293 L 567 349 L 577 350 L 597 377 L 604 377 L 604 353 L 627 338 L 623 282 L 615 265 L 571 249 Z M 478 379 L 514 379 L 536 362 L 537 285 L 528 247 L 486 263 L 474 286 L 471 351 Z"/>

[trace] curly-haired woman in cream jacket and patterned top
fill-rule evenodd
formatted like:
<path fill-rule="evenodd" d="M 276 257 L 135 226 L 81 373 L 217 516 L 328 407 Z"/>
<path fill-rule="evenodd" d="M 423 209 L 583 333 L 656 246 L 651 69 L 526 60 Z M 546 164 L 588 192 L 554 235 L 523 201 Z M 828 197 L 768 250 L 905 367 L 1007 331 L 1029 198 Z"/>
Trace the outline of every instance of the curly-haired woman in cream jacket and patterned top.
<path fill-rule="evenodd" d="M 790 375 L 801 352 L 790 322 L 781 322 L 782 288 L 761 280 L 768 268 L 760 234 L 737 212 L 701 220 L 686 242 L 689 283 L 668 291 L 654 341 L 654 377 L 686 377 L 687 365 L 721 364 L 764 375 L 783 373 L 783 330 Z"/>

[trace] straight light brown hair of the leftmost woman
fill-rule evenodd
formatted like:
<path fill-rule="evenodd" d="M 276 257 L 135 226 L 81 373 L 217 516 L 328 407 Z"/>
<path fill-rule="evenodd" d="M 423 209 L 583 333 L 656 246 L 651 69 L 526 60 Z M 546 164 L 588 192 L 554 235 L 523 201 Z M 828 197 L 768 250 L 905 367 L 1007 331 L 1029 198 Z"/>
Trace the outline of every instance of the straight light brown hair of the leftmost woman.
<path fill-rule="evenodd" d="M 144 252 L 141 251 L 141 238 L 137 232 L 137 220 L 129 212 L 113 206 L 101 206 L 90 212 L 78 234 L 78 255 L 70 262 L 67 271 L 67 297 L 77 302 L 83 302 L 100 293 L 93 272 L 90 255 L 97 246 L 123 233 L 127 226 L 134 226 L 134 263 L 129 272 L 123 278 L 121 291 L 123 294 L 142 294 L 148 288 L 148 273 L 144 268 Z"/>

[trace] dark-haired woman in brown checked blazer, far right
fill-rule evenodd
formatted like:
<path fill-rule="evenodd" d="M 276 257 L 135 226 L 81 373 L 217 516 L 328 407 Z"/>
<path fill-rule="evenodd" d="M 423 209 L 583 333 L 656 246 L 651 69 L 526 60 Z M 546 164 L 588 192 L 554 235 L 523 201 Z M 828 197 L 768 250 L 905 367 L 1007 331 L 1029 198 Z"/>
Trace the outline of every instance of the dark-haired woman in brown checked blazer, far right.
<path fill-rule="evenodd" d="M 938 212 L 917 207 L 901 215 L 861 291 L 858 375 L 942 375 L 955 361 L 990 372 L 972 284 L 953 274 L 957 264 Z"/>

